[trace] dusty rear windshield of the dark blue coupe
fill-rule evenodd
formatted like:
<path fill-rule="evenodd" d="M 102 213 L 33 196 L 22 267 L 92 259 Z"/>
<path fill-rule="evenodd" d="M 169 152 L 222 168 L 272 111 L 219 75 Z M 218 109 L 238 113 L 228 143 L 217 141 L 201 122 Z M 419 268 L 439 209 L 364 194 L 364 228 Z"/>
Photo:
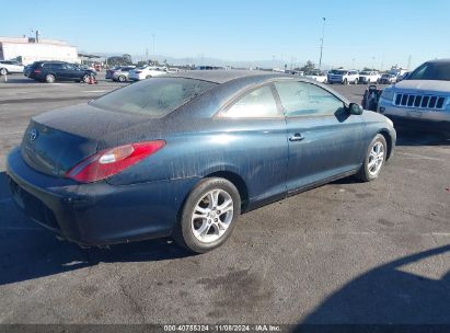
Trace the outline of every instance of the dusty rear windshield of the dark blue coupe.
<path fill-rule="evenodd" d="M 113 91 L 91 105 L 124 113 L 162 117 L 216 83 L 184 78 L 152 78 Z"/>

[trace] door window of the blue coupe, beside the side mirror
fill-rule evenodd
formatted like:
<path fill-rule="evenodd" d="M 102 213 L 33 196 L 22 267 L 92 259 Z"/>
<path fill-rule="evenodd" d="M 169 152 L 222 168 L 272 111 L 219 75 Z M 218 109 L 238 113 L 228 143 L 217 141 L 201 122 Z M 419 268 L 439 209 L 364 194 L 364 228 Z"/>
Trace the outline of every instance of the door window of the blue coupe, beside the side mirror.
<path fill-rule="evenodd" d="M 328 116 L 344 111 L 344 102 L 326 90 L 307 82 L 275 83 L 286 116 Z"/>

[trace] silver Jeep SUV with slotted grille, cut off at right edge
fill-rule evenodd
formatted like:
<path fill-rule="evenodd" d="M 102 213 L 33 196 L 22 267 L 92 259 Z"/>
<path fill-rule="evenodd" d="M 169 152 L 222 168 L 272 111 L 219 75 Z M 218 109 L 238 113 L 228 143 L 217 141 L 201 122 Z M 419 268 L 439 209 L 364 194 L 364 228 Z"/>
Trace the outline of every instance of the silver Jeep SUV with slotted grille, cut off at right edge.
<path fill-rule="evenodd" d="M 396 123 L 450 130 L 450 59 L 427 61 L 385 88 L 378 111 Z"/>

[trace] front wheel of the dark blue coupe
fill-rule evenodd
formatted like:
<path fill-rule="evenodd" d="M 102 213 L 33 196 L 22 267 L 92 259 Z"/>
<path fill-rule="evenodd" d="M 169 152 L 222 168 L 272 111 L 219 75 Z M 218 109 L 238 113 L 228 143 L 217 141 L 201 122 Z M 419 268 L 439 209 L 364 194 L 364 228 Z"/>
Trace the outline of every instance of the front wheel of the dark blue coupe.
<path fill-rule="evenodd" d="M 384 165 L 388 154 L 388 145 L 384 136 L 376 135 L 369 145 L 366 159 L 356 177 L 362 182 L 371 182 L 378 179 L 381 168 Z"/>

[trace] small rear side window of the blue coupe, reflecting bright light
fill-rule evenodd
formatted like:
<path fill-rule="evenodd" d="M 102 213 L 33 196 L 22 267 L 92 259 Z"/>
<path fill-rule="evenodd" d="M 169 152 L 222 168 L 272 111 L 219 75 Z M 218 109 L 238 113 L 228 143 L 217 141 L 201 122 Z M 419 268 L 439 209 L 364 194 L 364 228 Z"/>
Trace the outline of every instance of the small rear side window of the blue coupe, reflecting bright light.
<path fill-rule="evenodd" d="M 229 118 L 267 118 L 277 117 L 278 108 L 270 87 L 256 89 L 221 112 L 221 117 Z"/>

